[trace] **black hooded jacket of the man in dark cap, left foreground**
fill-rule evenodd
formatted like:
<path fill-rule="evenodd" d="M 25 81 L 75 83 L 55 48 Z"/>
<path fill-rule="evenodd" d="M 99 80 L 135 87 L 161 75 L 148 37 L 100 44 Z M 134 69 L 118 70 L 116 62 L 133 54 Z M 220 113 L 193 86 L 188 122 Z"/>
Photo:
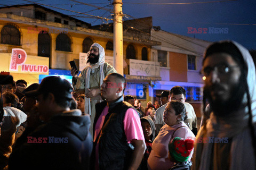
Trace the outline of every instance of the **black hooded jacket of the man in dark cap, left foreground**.
<path fill-rule="evenodd" d="M 79 115 L 75 109 L 54 115 L 33 131 L 27 128 L 15 144 L 9 169 L 89 169 L 90 116 Z"/>

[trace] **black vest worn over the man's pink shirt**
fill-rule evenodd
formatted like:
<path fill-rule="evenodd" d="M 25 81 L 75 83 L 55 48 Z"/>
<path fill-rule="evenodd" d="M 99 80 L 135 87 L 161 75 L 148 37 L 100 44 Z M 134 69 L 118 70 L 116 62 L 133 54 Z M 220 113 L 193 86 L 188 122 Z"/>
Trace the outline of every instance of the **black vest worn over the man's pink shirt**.
<path fill-rule="evenodd" d="M 106 101 L 95 105 L 96 115 L 93 129 L 106 105 Z M 133 107 L 123 101 L 123 97 L 109 106 L 99 137 L 100 169 L 127 169 L 130 165 L 133 146 L 127 143 L 123 124 L 125 113 L 129 108 Z"/>

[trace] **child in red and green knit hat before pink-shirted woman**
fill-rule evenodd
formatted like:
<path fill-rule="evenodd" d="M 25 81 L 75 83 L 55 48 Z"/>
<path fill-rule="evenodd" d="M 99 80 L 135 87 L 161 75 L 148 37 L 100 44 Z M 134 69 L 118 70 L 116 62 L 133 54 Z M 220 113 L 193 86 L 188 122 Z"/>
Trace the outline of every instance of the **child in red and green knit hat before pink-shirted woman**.
<path fill-rule="evenodd" d="M 191 162 L 188 162 L 191 151 L 194 149 L 195 141 L 192 139 L 173 138 L 169 143 L 169 157 L 175 162 L 171 170 L 189 170 Z"/>

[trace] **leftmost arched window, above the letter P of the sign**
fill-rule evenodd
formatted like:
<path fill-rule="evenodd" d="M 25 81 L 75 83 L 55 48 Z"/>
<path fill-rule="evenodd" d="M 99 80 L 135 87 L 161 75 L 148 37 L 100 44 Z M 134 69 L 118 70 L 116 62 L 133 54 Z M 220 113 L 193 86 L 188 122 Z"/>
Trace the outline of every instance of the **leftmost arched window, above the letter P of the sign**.
<path fill-rule="evenodd" d="M 20 46 L 20 31 L 14 25 L 5 25 L 1 30 L 1 43 Z"/>

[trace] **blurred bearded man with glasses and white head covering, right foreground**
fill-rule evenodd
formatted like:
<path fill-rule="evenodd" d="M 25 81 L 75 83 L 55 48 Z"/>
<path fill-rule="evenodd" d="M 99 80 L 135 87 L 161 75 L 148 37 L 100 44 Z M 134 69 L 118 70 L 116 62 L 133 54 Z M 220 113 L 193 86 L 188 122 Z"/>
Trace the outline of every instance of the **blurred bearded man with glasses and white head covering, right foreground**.
<path fill-rule="evenodd" d="M 256 169 L 256 81 L 251 55 L 234 41 L 214 43 L 206 49 L 202 73 L 204 108 L 208 99 L 212 113 L 197 134 L 193 168 Z"/>

